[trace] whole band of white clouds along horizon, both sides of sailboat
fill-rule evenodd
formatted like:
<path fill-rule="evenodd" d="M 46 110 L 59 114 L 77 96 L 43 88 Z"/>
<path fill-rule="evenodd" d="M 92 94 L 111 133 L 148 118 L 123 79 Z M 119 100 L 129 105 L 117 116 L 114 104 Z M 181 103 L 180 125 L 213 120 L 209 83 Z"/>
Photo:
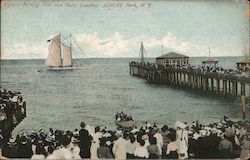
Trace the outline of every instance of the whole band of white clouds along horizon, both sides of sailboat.
<path fill-rule="evenodd" d="M 170 32 L 160 38 L 148 35 L 128 38 L 118 32 L 108 37 L 101 37 L 97 33 L 83 33 L 75 35 L 75 39 L 88 58 L 138 57 L 141 42 L 147 51 L 146 56 L 161 55 L 161 46 L 164 47 L 164 50 L 188 53 L 189 56 L 193 55 L 195 51 L 196 53 L 200 51 L 198 45 L 183 41 Z M 48 44 L 20 42 L 14 46 L 3 46 L 1 51 L 3 59 L 46 58 Z"/>

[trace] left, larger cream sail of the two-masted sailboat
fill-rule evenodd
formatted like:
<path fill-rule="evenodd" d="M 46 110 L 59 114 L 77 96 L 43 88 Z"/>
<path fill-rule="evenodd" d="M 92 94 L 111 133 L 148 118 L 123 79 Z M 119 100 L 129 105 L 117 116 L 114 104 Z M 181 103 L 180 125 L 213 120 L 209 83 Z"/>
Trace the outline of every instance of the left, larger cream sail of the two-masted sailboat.
<path fill-rule="evenodd" d="M 46 59 L 46 65 L 49 67 L 60 67 L 62 65 L 60 35 L 57 35 L 50 40 L 49 54 Z"/>

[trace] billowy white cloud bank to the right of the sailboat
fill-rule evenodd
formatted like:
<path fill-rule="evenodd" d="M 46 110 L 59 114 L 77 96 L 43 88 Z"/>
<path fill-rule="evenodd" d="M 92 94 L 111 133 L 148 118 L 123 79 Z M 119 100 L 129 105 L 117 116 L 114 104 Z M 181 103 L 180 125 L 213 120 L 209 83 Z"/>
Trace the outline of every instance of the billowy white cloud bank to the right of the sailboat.
<path fill-rule="evenodd" d="M 143 42 L 146 49 L 157 49 L 163 45 L 163 47 L 169 50 L 188 52 L 193 48 L 192 44 L 178 40 L 177 37 L 173 36 L 170 32 L 158 39 L 146 35 L 126 38 L 118 32 L 107 38 L 101 38 L 97 33 L 79 34 L 76 35 L 76 41 L 84 46 L 87 57 L 138 56 L 140 42 Z"/>

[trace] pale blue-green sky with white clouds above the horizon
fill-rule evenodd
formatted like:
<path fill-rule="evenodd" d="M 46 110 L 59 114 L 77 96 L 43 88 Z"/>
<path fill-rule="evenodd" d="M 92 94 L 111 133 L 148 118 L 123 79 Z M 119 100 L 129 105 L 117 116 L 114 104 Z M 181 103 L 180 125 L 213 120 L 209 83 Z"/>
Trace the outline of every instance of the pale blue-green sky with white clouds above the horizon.
<path fill-rule="evenodd" d="M 46 59 L 47 40 L 72 34 L 77 58 L 245 56 L 246 0 L 3 0 L 1 59 Z"/>

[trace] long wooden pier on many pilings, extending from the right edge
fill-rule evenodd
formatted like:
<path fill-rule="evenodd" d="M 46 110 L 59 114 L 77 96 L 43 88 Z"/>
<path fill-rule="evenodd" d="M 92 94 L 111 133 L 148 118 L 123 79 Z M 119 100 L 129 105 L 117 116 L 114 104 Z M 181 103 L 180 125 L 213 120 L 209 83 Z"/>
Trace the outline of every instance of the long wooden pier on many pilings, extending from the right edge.
<path fill-rule="evenodd" d="M 222 96 L 250 97 L 250 77 L 150 63 L 129 63 L 130 74 L 152 83 L 211 92 Z"/>

